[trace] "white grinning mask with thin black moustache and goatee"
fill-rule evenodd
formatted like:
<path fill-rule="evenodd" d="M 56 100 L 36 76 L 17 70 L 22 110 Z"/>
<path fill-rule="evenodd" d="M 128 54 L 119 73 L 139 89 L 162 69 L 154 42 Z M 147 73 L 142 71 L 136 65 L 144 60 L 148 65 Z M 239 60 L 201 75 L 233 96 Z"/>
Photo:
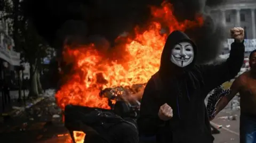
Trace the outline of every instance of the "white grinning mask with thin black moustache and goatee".
<path fill-rule="evenodd" d="M 185 67 L 194 60 L 194 48 L 188 42 L 181 42 L 173 47 L 170 58 L 175 65 Z"/>

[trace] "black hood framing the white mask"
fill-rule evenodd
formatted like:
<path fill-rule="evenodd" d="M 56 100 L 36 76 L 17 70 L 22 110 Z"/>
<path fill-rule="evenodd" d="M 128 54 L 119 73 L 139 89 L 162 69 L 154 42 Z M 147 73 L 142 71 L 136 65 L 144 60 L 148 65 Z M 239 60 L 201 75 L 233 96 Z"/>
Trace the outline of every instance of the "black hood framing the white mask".
<path fill-rule="evenodd" d="M 177 63 L 175 63 L 176 60 L 175 60 L 175 57 L 172 57 L 173 56 L 172 51 L 175 45 L 183 42 L 187 42 L 191 44 L 191 46 L 193 47 L 194 55 L 192 57 L 193 59 L 190 59 L 190 60 L 193 60 L 192 62 L 190 61 L 191 63 L 181 67 L 181 66 L 178 66 Z M 178 56 L 180 57 L 180 55 Z M 185 33 L 178 30 L 173 31 L 167 37 L 166 43 L 164 45 L 164 49 L 161 56 L 161 65 L 159 68 L 159 72 L 160 74 L 169 74 L 169 75 L 170 73 L 173 73 L 173 74 L 182 73 L 186 69 L 190 69 L 191 67 L 194 67 L 196 56 L 197 56 L 197 48 L 195 43 Z M 181 61 L 176 61 L 176 62 L 181 62 Z"/>

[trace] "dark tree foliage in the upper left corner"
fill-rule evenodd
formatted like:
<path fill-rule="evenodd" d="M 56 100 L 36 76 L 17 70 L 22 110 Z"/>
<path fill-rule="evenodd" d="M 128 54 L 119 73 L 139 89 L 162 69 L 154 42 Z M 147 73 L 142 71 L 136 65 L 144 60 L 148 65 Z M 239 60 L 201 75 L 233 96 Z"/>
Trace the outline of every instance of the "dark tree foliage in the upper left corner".
<path fill-rule="evenodd" d="M 15 51 L 23 53 L 26 61 L 31 64 L 35 63 L 36 58 L 45 57 L 48 45 L 38 35 L 32 22 L 26 18 L 24 2 L 20 0 L 1 0 L 0 2 L 0 9 L 4 11 L 0 19 L 8 20 L 9 25 L 12 26 L 10 34 L 14 39 Z"/>

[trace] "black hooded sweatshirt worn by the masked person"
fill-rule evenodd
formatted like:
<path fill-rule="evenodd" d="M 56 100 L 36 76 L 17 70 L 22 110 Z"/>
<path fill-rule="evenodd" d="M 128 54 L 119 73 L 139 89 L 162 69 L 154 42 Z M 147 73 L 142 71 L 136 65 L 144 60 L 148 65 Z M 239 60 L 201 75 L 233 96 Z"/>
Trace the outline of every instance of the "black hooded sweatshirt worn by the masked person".
<path fill-rule="evenodd" d="M 170 61 L 175 44 L 188 41 L 194 47 L 194 61 L 184 68 Z M 214 41 L 213 41 L 214 42 Z M 210 122 L 204 99 L 208 92 L 240 71 L 244 61 L 244 44 L 231 44 L 226 62 L 219 65 L 196 65 L 196 45 L 180 31 L 166 40 L 159 71 L 148 81 L 141 100 L 138 127 L 144 136 L 157 136 L 161 143 L 212 143 Z M 173 109 L 169 121 L 158 118 L 161 105 Z"/>

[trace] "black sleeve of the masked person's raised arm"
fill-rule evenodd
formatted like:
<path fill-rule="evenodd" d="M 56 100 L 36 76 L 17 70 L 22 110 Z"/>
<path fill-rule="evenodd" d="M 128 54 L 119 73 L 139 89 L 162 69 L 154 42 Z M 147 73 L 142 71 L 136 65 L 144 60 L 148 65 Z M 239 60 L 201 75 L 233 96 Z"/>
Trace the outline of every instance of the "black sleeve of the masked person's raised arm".
<path fill-rule="evenodd" d="M 244 41 L 242 43 L 232 43 L 229 58 L 226 62 L 218 65 L 201 65 L 203 80 L 205 83 L 204 91 L 210 92 L 222 83 L 233 79 L 240 71 L 244 62 Z M 207 94 L 206 94 L 207 95 Z"/>

